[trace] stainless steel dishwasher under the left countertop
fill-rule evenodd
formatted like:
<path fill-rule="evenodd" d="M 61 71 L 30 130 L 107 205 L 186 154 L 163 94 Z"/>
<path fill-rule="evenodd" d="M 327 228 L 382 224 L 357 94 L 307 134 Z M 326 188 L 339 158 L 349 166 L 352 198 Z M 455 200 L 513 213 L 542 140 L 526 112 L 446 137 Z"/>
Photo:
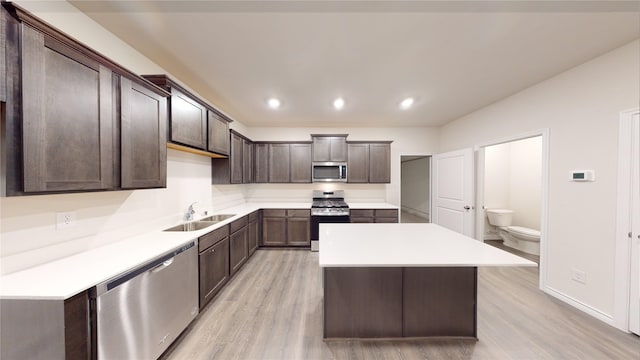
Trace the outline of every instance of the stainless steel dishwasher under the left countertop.
<path fill-rule="evenodd" d="M 195 241 L 96 286 L 98 359 L 157 359 L 198 315 Z"/>

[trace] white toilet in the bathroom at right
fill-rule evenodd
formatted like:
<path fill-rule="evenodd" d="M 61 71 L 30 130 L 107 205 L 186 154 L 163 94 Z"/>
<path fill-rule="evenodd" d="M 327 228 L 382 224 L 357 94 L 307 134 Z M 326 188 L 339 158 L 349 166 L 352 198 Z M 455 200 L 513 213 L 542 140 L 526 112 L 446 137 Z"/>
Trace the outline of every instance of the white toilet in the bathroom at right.
<path fill-rule="evenodd" d="M 540 255 L 540 231 L 522 226 L 513 226 L 513 210 L 486 209 L 489 224 L 498 229 L 498 235 L 506 246 Z"/>

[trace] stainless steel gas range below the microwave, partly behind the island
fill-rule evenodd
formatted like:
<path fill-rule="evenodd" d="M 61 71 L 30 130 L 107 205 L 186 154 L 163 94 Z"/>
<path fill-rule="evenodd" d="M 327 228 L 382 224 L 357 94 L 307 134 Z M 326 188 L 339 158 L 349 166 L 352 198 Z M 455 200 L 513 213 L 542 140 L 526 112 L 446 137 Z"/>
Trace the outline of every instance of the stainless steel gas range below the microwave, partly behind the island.
<path fill-rule="evenodd" d="M 343 190 L 313 190 L 311 204 L 311 251 L 318 251 L 320 223 L 348 223 L 349 205 L 344 201 Z"/>

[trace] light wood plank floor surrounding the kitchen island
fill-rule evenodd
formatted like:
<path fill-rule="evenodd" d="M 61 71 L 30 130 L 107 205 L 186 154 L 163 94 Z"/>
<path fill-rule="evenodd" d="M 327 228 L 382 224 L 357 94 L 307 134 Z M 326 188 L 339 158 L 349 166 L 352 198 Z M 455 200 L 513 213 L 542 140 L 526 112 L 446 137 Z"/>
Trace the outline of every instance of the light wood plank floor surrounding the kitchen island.
<path fill-rule="evenodd" d="M 259 250 L 166 359 L 639 359 L 640 338 L 538 290 L 535 268 L 480 268 L 478 341 L 322 341 L 318 253 Z M 375 314 L 371 314 L 375 316 Z"/>

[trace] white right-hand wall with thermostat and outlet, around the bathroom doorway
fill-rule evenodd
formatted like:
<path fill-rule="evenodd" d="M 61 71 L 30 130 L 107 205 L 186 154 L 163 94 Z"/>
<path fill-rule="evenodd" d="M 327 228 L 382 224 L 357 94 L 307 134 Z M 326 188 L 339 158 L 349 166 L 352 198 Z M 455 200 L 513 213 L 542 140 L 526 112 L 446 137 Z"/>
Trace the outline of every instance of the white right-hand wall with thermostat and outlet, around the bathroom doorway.
<path fill-rule="evenodd" d="M 604 320 L 614 306 L 618 116 L 639 106 L 639 78 L 636 40 L 441 129 L 443 151 L 549 129 L 547 290 Z M 596 181 L 569 182 L 575 169 L 595 170 Z"/>

